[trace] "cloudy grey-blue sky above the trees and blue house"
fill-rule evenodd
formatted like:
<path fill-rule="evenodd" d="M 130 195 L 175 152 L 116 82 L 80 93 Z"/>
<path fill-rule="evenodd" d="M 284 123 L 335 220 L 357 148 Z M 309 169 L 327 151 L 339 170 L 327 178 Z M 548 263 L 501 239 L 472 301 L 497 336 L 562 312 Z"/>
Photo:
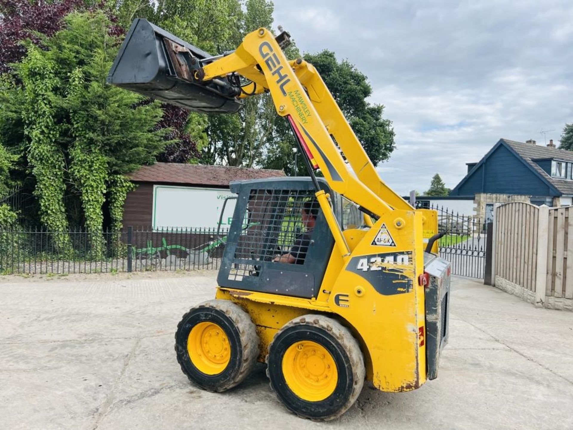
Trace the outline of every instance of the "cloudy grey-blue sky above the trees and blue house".
<path fill-rule="evenodd" d="M 573 122 L 573 2 L 275 1 L 303 52 L 329 49 L 368 76 L 394 122 L 380 163 L 395 191 L 453 188 L 499 138 L 558 143 Z"/>

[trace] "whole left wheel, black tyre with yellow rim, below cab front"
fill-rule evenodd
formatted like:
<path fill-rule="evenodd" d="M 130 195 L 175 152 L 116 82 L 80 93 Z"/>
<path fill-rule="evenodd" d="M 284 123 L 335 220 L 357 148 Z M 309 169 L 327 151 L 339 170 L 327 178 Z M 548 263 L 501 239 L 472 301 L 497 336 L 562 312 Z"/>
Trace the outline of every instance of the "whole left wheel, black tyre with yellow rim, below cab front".
<path fill-rule="evenodd" d="M 223 392 L 253 370 L 259 353 L 249 314 L 228 300 L 208 300 L 183 315 L 175 353 L 183 373 L 202 389 Z"/>

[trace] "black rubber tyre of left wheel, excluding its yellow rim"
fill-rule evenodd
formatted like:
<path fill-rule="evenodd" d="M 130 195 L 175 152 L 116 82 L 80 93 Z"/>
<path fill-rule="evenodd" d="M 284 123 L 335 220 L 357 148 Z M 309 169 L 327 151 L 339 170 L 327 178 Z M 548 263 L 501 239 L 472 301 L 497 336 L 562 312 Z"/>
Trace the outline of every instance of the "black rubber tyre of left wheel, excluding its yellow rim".
<path fill-rule="evenodd" d="M 208 375 L 195 367 L 187 351 L 187 339 L 201 322 L 219 325 L 229 339 L 231 358 L 223 372 Z M 247 312 L 228 300 L 208 300 L 183 315 L 175 333 L 175 353 L 183 373 L 193 384 L 211 392 L 223 392 L 244 380 L 257 362 L 259 338 L 256 326 Z"/>

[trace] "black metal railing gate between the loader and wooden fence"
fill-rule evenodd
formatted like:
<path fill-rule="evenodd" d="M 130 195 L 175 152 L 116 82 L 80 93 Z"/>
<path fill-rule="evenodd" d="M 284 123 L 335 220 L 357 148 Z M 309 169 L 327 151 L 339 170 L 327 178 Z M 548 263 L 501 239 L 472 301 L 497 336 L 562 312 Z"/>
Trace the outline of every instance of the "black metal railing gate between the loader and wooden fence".
<path fill-rule="evenodd" d="M 439 256 L 452 263 L 453 275 L 484 278 L 487 222 L 448 208 L 432 206 L 438 212 Z"/>

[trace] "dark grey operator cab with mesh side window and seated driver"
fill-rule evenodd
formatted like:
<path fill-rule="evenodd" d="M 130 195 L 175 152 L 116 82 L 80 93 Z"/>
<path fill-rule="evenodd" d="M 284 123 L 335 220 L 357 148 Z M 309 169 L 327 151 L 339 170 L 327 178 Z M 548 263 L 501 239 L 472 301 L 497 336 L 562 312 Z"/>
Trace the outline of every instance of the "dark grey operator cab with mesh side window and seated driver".
<path fill-rule="evenodd" d="M 324 179 L 318 178 L 318 183 L 331 194 L 340 224 L 344 221 L 355 227 L 361 218 L 358 208 L 331 191 Z M 334 239 L 311 178 L 238 181 L 231 182 L 230 189 L 238 196 L 217 278 L 219 286 L 316 297 Z M 312 223 L 303 220 L 303 210 L 312 212 Z M 292 263 L 280 259 L 289 253 Z"/>

